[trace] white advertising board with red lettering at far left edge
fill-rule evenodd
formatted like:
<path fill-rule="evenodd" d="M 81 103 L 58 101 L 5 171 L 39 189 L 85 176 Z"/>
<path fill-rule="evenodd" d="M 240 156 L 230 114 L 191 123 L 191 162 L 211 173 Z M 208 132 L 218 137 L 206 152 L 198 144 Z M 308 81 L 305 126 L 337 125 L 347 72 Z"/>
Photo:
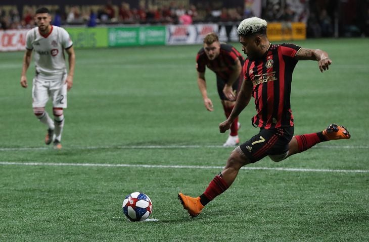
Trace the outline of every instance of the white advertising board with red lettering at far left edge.
<path fill-rule="evenodd" d="M 25 50 L 28 29 L 0 30 L 0 51 Z"/>

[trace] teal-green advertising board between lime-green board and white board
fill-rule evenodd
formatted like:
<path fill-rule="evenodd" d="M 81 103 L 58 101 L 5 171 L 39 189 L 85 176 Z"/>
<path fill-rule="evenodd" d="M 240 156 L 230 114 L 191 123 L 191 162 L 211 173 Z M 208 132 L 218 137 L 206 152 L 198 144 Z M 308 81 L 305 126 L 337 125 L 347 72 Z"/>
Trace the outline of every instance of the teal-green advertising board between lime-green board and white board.
<path fill-rule="evenodd" d="M 164 45 L 165 26 L 109 28 L 109 46 Z"/>

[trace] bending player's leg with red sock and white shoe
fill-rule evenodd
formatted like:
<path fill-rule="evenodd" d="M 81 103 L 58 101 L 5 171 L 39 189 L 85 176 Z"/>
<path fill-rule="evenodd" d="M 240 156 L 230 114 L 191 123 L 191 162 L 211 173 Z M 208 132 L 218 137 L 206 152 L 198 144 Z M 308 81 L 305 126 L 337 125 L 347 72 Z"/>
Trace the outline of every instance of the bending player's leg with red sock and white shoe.
<path fill-rule="evenodd" d="M 230 113 L 232 112 L 232 109 L 235 106 L 235 101 L 229 101 L 225 97 L 225 95 L 223 93 L 223 88 L 225 86 L 225 81 L 223 79 L 221 79 L 219 76 L 216 77 L 216 80 L 217 80 L 218 95 L 219 95 L 219 98 L 220 98 L 221 103 L 223 105 L 223 110 L 224 110 L 225 117 L 228 118 Z M 239 86 L 240 86 L 239 84 L 240 83 L 237 82 L 233 85 L 233 90 L 234 90 L 236 95 L 238 93 L 238 89 L 239 89 Z M 233 124 L 232 124 L 232 126 L 230 126 L 229 136 L 228 136 L 226 142 L 223 144 L 223 146 L 225 146 L 225 147 L 236 146 L 240 143 L 240 139 L 238 137 L 239 128 L 240 128 L 239 119 L 238 119 L 238 117 L 236 117 Z"/>

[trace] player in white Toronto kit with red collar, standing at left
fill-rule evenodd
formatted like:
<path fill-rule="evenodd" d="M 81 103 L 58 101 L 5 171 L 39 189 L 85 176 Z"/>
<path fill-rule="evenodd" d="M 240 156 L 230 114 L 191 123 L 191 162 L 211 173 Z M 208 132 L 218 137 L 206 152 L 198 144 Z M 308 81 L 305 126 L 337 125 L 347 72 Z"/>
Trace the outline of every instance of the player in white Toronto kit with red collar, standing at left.
<path fill-rule="evenodd" d="M 32 84 L 33 112 L 42 124 L 48 126 L 45 144 L 54 142 L 54 148 L 61 149 L 63 109 L 67 107 L 67 90 L 73 85 L 75 64 L 73 42 L 66 30 L 50 24 L 51 15 L 47 8 L 38 9 L 34 18 L 37 27 L 28 31 L 26 36 L 21 86 L 24 88 L 28 86 L 26 72 L 34 51 L 36 74 Z M 68 74 L 64 49 L 68 53 Z M 53 102 L 54 120 L 45 111 L 45 105 L 50 97 Z"/>

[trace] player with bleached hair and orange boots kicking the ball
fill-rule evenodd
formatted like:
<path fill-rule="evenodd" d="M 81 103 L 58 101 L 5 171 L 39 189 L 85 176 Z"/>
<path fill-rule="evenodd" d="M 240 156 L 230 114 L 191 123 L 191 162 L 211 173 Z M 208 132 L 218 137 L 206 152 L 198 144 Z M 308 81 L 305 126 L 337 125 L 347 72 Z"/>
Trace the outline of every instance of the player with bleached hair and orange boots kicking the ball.
<path fill-rule="evenodd" d="M 317 133 L 293 136 L 290 108 L 292 72 L 297 62 L 304 59 L 317 61 L 320 72 L 328 70 L 332 61 L 327 52 L 294 44 L 271 44 L 266 36 L 266 21 L 257 17 L 243 20 L 237 31 L 242 50 L 248 57 L 242 71 L 244 82 L 234 109 L 219 124 L 219 130 L 221 133 L 228 130 L 253 96 L 257 111 L 253 124 L 260 128 L 260 133 L 233 150 L 224 169 L 213 178 L 201 196 L 193 198 L 178 194 L 183 208 L 192 217 L 198 216 L 206 204 L 232 185 L 242 166 L 265 156 L 279 162 L 317 143 L 350 138 L 347 129 L 336 124 Z"/>

